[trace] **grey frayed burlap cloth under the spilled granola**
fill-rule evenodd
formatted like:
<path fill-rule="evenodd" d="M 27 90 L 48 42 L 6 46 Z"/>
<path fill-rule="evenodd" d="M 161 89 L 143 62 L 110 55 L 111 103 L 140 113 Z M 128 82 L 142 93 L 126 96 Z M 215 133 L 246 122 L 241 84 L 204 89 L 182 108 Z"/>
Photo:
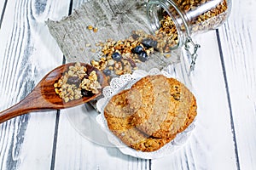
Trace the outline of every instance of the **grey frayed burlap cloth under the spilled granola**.
<path fill-rule="evenodd" d="M 99 59 L 100 53 L 92 52 L 97 42 L 108 39 L 124 40 L 131 31 L 143 30 L 150 33 L 146 13 L 146 1 L 143 0 L 90 0 L 62 20 L 46 22 L 51 35 L 55 38 L 67 62 L 90 63 Z M 97 32 L 87 26 L 98 28 Z M 91 47 L 86 47 L 91 44 Z M 181 50 L 172 51 L 171 57 L 154 52 L 148 61 L 137 65 L 145 71 L 151 68 L 162 69 L 166 65 L 179 62 Z"/>

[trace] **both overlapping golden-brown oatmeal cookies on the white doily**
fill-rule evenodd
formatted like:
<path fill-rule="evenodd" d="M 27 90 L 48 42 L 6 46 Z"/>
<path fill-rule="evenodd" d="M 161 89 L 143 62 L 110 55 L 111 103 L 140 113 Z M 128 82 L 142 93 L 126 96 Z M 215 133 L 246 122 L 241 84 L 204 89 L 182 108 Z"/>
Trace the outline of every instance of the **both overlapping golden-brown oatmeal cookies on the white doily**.
<path fill-rule="evenodd" d="M 104 116 L 108 128 L 123 143 L 150 152 L 159 150 L 193 122 L 196 100 L 182 82 L 148 76 L 114 95 Z"/>

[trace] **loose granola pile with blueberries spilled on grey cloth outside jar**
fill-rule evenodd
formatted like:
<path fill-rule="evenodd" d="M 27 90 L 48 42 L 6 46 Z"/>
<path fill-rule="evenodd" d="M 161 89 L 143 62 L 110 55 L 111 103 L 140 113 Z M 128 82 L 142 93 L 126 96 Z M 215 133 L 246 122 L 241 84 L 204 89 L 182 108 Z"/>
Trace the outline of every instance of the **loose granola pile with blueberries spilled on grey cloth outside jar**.
<path fill-rule="evenodd" d="M 99 48 L 95 52 L 100 52 L 101 57 L 91 60 L 90 64 L 107 77 L 131 74 L 137 70 L 137 64 L 146 62 L 155 51 L 162 54 L 170 52 L 170 44 L 166 46 L 166 43 L 161 41 L 162 39 L 145 31 L 131 31 L 131 36 L 125 40 L 108 39 L 106 42 L 96 43 Z M 171 54 L 165 56 L 170 57 Z"/>

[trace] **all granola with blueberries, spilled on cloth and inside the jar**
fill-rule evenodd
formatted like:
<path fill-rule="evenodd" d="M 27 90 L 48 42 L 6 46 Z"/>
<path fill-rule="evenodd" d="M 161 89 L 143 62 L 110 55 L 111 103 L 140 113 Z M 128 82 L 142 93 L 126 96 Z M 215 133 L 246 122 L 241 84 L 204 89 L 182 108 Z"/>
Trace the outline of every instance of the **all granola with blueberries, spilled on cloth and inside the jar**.
<path fill-rule="evenodd" d="M 202 4 L 213 2 L 214 0 L 176 0 L 177 6 L 185 13 L 199 8 Z M 197 31 L 206 31 L 218 27 L 226 19 L 228 12 L 227 0 L 219 1 L 215 8 L 206 12 L 196 13 L 191 20 L 188 20 L 189 29 L 192 33 Z M 174 10 L 174 11 L 172 11 Z M 177 14 L 177 11 L 170 7 L 170 11 Z M 178 15 L 178 14 L 177 14 Z M 93 30 L 93 26 L 88 29 Z M 184 30 L 185 27 L 182 27 Z M 102 71 L 107 77 L 110 75 L 123 75 L 137 70 L 137 64 L 146 62 L 154 52 L 162 56 L 170 57 L 172 48 L 179 42 L 177 27 L 172 17 L 163 11 L 160 20 L 160 27 L 154 31 L 154 34 L 148 34 L 145 31 L 131 31 L 131 36 L 125 40 L 114 41 L 112 39 L 106 42 L 96 43 L 97 50 L 101 52 L 99 59 L 91 60 L 91 65 Z M 90 47 L 90 44 L 87 44 Z"/>

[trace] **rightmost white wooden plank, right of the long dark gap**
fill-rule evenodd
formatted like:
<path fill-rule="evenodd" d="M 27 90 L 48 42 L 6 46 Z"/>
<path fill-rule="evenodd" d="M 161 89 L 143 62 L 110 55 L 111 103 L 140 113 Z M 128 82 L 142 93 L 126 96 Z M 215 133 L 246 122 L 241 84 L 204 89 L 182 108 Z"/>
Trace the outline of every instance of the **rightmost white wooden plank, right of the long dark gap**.
<path fill-rule="evenodd" d="M 230 20 L 219 30 L 241 169 L 256 169 L 255 5 L 233 1 Z"/>

